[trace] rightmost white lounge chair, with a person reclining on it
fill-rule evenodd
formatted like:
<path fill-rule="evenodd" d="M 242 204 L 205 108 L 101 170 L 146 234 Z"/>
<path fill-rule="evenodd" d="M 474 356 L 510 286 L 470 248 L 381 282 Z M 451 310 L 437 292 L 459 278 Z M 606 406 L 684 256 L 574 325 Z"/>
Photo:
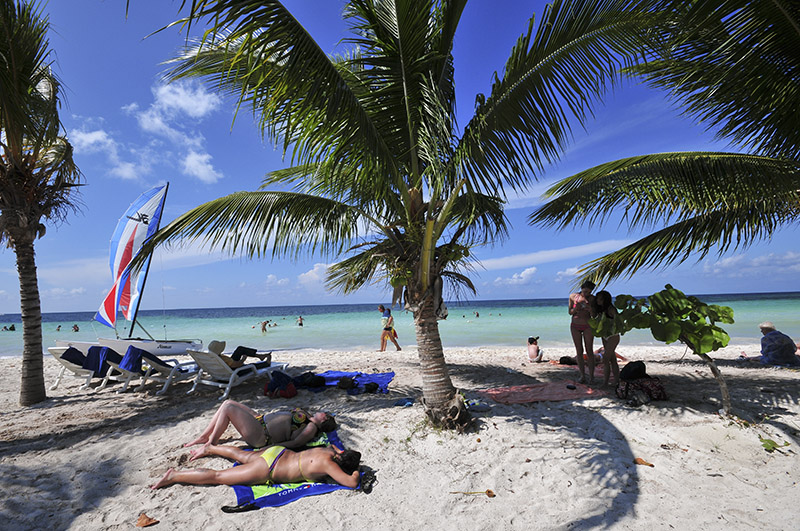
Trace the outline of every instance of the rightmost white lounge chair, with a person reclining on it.
<path fill-rule="evenodd" d="M 220 348 L 221 345 L 221 348 Z M 209 350 L 192 350 L 187 349 L 186 352 L 197 362 L 200 366 L 200 371 L 197 373 L 194 385 L 188 393 L 193 393 L 197 386 L 200 384 L 212 385 L 225 389 L 222 393 L 220 400 L 228 398 L 233 387 L 236 387 L 242 382 L 258 376 L 269 376 L 269 373 L 276 369 L 285 369 L 288 363 L 248 363 L 236 369 L 231 369 L 225 360 L 220 357 L 222 349 L 225 348 L 225 343 L 221 341 L 212 341 L 208 344 Z"/>

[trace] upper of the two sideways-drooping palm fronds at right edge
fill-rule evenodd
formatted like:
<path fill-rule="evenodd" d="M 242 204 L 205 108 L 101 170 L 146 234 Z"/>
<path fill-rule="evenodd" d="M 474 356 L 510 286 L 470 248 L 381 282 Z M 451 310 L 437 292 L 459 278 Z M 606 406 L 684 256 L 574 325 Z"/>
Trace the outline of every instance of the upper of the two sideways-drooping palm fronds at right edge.
<path fill-rule="evenodd" d="M 663 226 L 671 219 L 715 210 L 752 212 L 758 218 L 775 215 L 780 221 L 798 208 L 798 190 L 800 163 L 794 160 L 660 153 L 601 164 L 559 181 L 545 193 L 553 199 L 529 221 L 563 229 L 621 215 L 633 228 Z"/>

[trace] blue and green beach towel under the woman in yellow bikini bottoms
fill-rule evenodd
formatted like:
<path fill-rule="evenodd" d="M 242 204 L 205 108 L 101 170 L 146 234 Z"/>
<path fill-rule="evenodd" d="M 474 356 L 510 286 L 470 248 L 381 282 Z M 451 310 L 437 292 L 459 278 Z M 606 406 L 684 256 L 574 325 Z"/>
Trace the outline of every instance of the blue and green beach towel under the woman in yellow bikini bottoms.
<path fill-rule="evenodd" d="M 333 445 L 344 449 L 336 431 L 321 433 L 307 446 Z M 238 466 L 238 465 L 233 465 Z M 244 512 L 263 507 L 280 507 L 306 496 L 327 494 L 335 490 L 354 490 L 338 483 L 266 483 L 263 485 L 231 485 L 236 493 L 236 505 L 224 507 L 225 512 Z"/>

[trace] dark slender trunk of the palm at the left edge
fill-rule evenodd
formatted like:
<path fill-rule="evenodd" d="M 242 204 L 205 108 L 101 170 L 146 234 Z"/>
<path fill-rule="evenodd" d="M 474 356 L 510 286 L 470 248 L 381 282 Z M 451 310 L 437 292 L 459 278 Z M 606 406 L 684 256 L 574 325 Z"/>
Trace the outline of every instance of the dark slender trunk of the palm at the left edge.
<path fill-rule="evenodd" d="M 14 252 L 17 255 L 23 341 L 19 403 L 22 406 L 30 406 L 47 398 L 42 359 L 42 307 L 39 300 L 33 239 L 16 239 Z"/>

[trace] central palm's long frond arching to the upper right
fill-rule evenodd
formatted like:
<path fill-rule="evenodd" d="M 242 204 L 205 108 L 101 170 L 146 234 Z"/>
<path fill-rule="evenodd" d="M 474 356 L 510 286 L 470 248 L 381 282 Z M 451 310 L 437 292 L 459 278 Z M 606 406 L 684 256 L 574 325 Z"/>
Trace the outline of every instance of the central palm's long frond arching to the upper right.
<path fill-rule="evenodd" d="M 503 193 L 558 159 L 608 84 L 644 53 L 655 14 L 646 2 L 556 0 L 531 18 L 488 97 L 479 95 L 455 160 L 474 186 Z"/>

